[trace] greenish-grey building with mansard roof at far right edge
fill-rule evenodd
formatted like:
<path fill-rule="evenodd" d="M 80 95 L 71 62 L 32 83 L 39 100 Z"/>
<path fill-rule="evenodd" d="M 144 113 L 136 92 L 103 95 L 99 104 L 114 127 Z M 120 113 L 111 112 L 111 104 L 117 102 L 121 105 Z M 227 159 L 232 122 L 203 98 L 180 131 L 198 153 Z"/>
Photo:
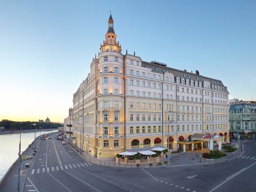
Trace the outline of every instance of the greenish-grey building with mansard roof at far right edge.
<path fill-rule="evenodd" d="M 229 107 L 230 134 L 241 139 L 254 139 L 256 136 L 256 104 L 239 102 Z"/>

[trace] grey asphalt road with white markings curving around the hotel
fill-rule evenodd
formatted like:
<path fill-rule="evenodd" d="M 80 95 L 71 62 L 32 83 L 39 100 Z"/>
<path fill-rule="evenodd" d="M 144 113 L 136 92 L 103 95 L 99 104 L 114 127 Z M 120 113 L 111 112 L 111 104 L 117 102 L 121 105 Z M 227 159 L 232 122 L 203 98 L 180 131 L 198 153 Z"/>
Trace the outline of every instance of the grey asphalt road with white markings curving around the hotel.
<path fill-rule="evenodd" d="M 256 141 L 244 145 L 224 163 L 124 169 L 87 162 L 53 137 L 42 141 L 24 191 L 255 191 Z"/>

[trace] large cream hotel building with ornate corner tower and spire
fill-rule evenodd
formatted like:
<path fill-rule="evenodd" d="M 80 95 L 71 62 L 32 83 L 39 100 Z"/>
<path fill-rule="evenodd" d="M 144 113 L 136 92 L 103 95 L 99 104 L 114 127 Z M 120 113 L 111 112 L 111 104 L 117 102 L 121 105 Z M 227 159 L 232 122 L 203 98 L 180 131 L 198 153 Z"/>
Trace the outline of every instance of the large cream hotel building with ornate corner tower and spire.
<path fill-rule="evenodd" d="M 94 157 L 115 157 L 126 149 L 163 145 L 170 149 L 194 133 L 227 140 L 228 91 L 214 78 L 122 54 L 113 18 L 91 72 L 73 96 L 73 140 Z M 189 149 L 188 145 L 188 149 Z"/>

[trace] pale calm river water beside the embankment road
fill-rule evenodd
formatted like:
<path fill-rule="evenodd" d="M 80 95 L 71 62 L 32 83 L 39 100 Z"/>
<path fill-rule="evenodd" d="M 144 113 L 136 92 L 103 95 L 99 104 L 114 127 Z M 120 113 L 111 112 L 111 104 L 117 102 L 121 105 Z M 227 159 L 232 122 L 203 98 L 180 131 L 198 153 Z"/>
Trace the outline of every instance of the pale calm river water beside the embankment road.
<path fill-rule="evenodd" d="M 54 131 L 38 131 L 36 137 L 41 134 L 56 132 Z M 28 145 L 34 141 L 35 132 L 21 133 L 21 151 L 25 150 Z M 0 180 L 9 167 L 16 161 L 19 153 L 20 134 L 3 134 L 0 135 Z"/>

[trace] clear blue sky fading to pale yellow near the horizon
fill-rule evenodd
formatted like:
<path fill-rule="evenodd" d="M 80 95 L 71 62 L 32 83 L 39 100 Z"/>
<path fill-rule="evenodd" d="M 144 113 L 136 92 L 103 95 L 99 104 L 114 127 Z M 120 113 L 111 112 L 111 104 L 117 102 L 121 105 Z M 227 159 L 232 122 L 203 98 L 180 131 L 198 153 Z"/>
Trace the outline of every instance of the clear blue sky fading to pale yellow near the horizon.
<path fill-rule="evenodd" d="M 105 38 L 256 100 L 256 1 L 0 1 L 0 121 L 63 122 Z"/>

